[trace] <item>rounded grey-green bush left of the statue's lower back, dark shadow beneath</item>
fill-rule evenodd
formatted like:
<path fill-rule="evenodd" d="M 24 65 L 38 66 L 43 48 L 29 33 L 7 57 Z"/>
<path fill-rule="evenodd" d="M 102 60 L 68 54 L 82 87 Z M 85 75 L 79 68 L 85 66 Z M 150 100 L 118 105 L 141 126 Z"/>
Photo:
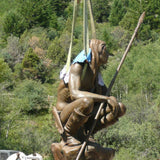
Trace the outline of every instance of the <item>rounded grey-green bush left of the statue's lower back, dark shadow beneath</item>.
<path fill-rule="evenodd" d="M 36 112 L 37 110 L 48 108 L 48 94 L 45 87 L 40 82 L 24 80 L 14 89 L 14 94 L 24 102 L 23 111 Z"/>

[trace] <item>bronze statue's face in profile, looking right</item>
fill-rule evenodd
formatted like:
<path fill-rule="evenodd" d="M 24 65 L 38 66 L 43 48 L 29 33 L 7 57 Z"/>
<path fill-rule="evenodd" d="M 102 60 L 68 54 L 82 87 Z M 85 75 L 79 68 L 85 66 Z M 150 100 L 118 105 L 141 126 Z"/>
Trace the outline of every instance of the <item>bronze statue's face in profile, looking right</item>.
<path fill-rule="evenodd" d="M 108 61 L 108 52 L 106 50 L 106 43 L 102 42 L 99 44 L 99 65 L 106 64 Z"/>

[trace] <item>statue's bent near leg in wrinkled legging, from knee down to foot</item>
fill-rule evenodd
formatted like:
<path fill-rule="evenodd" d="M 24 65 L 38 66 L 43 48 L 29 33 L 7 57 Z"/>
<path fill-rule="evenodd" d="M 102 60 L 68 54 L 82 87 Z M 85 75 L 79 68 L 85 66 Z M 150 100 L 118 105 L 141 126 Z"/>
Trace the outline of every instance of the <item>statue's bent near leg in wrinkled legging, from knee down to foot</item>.
<path fill-rule="evenodd" d="M 62 111 L 61 113 L 61 119 L 66 124 L 64 126 L 65 133 L 66 133 L 66 141 L 69 145 L 75 145 L 78 143 L 75 138 L 77 138 L 77 132 L 80 129 L 80 127 L 83 126 L 84 123 L 89 118 L 89 115 L 91 114 L 93 110 L 93 104 L 94 101 L 91 98 L 81 98 L 77 100 L 75 103 L 73 102 L 70 106 L 67 106 L 66 108 L 69 110 L 69 118 L 63 119 L 64 117 L 67 118 L 68 115 Z M 74 137 L 74 138 L 73 138 Z"/>

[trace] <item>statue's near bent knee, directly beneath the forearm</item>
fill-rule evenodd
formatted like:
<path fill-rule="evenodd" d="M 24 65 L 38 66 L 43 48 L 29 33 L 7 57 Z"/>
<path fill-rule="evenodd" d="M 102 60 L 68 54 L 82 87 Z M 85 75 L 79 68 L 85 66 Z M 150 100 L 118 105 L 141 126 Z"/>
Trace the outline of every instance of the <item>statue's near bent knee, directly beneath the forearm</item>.
<path fill-rule="evenodd" d="M 84 113 L 85 115 L 88 115 L 92 112 L 93 105 L 94 105 L 94 101 L 92 98 L 82 98 L 79 111 Z"/>

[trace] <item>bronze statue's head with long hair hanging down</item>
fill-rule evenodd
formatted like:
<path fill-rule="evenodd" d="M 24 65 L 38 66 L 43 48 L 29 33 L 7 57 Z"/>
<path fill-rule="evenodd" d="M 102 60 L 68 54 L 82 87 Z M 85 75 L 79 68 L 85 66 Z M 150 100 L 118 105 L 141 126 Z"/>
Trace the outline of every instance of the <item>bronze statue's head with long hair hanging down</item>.
<path fill-rule="evenodd" d="M 94 66 L 106 64 L 108 61 L 109 53 L 106 50 L 106 43 L 98 39 L 90 41 L 90 48 L 92 50 L 92 62 Z"/>

